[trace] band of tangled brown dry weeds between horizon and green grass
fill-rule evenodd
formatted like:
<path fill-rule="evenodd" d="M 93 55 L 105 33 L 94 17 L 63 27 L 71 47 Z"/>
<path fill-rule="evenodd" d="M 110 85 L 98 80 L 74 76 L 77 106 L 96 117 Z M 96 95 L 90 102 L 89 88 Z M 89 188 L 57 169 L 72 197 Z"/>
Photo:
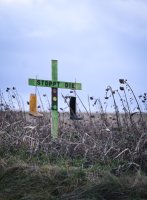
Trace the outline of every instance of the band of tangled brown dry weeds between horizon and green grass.
<path fill-rule="evenodd" d="M 95 115 L 94 118 L 88 119 L 86 116 L 84 120 L 68 122 L 67 117 L 64 116 L 63 119 L 61 115 L 59 137 L 52 140 L 49 116 L 44 113 L 43 117 L 34 118 L 27 113 L 1 112 L 1 152 L 7 154 L 25 149 L 30 157 L 40 152 L 56 158 L 81 157 L 89 165 L 97 160 L 127 160 L 146 170 L 147 134 L 139 122 L 130 127 L 117 127 L 115 120 L 109 115 L 105 115 L 105 120 L 100 115 Z M 135 120 L 139 121 L 137 116 Z"/>

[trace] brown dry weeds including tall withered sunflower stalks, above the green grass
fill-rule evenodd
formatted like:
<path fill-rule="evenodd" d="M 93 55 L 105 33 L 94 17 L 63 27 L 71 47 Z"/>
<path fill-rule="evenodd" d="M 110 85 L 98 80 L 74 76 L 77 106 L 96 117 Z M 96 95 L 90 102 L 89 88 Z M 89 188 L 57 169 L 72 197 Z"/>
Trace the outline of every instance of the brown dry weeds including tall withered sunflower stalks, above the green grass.
<path fill-rule="evenodd" d="M 60 113 L 59 137 L 55 141 L 51 140 L 51 115 L 48 112 L 43 112 L 42 118 L 33 118 L 27 113 L 22 114 L 24 103 L 21 104 L 16 88 L 7 88 L 8 102 L 6 102 L 3 93 L 0 93 L 1 149 L 4 148 L 6 152 L 10 152 L 13 149 L 18 150 L 25 146 L 30 156 L 43 152 L 51 157 L 84 157 L 89 163 L 93 163 L 97 159 L 102 161 L 119 159 L 123 161 L 126 158 L 129 161 L 136 162 L 146 150 L 146 143 L 144 143 L 146 134 L 142 139 L 142 134 L 146 131 L 146 114 L 141 112 L 137 98 L 127 81 L 124 79 L 119 81 L 121 84 L 126 84 L 131 90 L 139 113 L 132 113 L 124 87 L 120 87 L 121 91 L 124 92 L 124 96 L 121 96 L 118 90 L 113 90 L 109 86 L 106 89 L 107 98 L 105 97 L 105 99 L 108 101 L 112 97 L 115 115 L 104 111 L 100 99 L 88 97 L 89 112 L 86 109 L 87 114 L 84 114 L 83 120 L 68 120 L 68 113 L 64 111 Z M 108 96 L 109 91 L 110 95 Z M 117 94 L 124 113 L 118 110 Z M 43 98 L 46 98 L 50 108 L 48 97 L 43 95 Z M 69 105 L 66 97 L 64 97 L 64 100 Z M 15 101 L 18 102 L 18 109 Z M 92 106 L 97 106 L 97 114 L 91 113 L 90 102 L 93 102 Z M 41 101 L 42 104 L 43 101 Z M 44 107 L 43 111 L 45 110 Z M 16 110 L 18 111 L 16 112 Z"/>

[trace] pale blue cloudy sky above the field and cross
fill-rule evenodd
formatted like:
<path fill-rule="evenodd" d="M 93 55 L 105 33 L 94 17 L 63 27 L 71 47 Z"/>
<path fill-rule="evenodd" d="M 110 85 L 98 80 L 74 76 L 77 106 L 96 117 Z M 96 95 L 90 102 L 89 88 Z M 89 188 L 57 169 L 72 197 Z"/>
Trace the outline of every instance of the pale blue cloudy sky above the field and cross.
<path fill-rule="evenodd" d="M 147 1 L 0 0 L 0 89 L 15 86 L 26 101 L 28 78 L 50 80 L 52 59 L 60 81 L 82 83 L 84 102 L 103 100 L 119 78 L 147 92 Z"/>

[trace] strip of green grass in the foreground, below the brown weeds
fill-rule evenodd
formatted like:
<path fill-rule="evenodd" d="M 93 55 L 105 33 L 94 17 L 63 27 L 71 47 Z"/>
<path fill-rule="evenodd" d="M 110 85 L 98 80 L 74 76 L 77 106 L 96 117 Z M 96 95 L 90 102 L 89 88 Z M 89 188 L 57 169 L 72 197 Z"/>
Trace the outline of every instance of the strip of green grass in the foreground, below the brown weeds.
<path fill-rule="evenodd" d="M 6 167 L 5 160 L 1 160 L 1 200 L 147 199 L 147 177 L 140 171 L 117 177 L 98 165 L 82 169 L 12 162 L 14 157 Z"/>

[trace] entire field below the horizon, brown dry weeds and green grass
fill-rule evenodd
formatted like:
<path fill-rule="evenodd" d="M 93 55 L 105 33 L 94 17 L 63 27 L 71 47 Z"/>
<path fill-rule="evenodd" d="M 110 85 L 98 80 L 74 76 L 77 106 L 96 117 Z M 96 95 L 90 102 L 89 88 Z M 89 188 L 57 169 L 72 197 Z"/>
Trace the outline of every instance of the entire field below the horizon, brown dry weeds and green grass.
<path fill-rule="evenodd" d="M 50 113 L 0 113 L 0 200 L 147 199 L 147 132 L 134 115 L 62 113 L 51 139 Z"/>

